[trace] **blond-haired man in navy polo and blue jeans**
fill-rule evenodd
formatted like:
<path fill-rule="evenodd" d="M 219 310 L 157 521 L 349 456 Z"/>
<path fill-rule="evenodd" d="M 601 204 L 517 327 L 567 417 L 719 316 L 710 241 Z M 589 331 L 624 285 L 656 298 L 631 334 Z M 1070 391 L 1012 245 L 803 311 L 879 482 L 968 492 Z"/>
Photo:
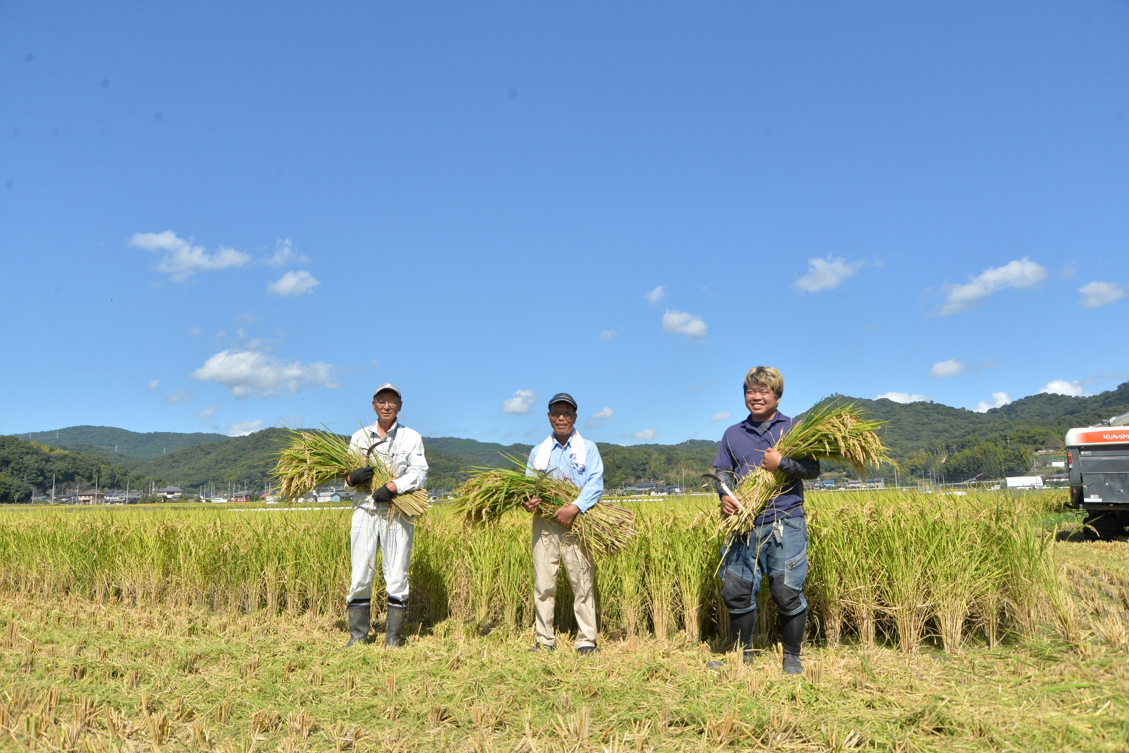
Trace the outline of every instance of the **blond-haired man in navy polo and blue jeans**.
<path fill-rule="evenodd" d="M 784 671 L 800 674 L 799 647 L 804 641 L 807 599 L 807 526 L 804 523 L 804 482 L 820 475 L 820 462 L 782 457 L 776 449 L 780 437 L 795 419 L 777 411 L 784 396 L 784 377 L 770 366 L 758 366 L 745 375 L 745 406 L 749 418 L 729 427 L 721 436 L 714 467 L 730 489 L 758 466 L 780 470 L 791 476 L 780 496 L 756 516 L 752 531 L 730 536 L 721 548 L 721 599 L 729 610 L 729 625 L 744 659 L 752 658 L 753 629 L 756 624 L 756 593 L 761 579 L 772 579 L 769 590 L 777 604 L 784 642 Z M 739 500 L 726 494 L 718 484 L 721 515 L 733 515 Z M 711 665 L 720 663 L 711 662 Z"/>

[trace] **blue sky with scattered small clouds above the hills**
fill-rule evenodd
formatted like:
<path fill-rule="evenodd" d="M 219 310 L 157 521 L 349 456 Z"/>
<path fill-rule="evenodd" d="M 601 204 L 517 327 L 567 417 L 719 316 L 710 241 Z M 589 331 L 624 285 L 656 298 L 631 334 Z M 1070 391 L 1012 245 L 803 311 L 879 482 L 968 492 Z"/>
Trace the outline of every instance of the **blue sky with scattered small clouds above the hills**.
<path fill-rule="evenodd" d="M 1127 378 L 1129 6 L 0 11 L 0 431 L 715 439 Z"/>

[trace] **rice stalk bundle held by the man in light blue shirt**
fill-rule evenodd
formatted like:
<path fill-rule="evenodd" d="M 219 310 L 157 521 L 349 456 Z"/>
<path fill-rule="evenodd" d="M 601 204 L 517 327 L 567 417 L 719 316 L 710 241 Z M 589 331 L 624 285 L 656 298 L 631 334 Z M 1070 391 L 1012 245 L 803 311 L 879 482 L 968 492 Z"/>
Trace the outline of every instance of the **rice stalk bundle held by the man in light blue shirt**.
<path fill-rule="evenodd" d="M 470 524 L 493 525 L 509 510 L 525 509 L 525 500 L 541 497 L 541 514 L 551 517 L 557 510 L 571 505 L 580 489 L 569 481 L 546 471 L 530 474 L 525 461 L 506 455 L 513 469 L 476 469 L 460 490 L 455 509 Z M 596 502 L 576 516 L 572 534 L 593 554 L 612 557 L 636 536 L 632 527 L 634 515 L 618 505 Z"/>

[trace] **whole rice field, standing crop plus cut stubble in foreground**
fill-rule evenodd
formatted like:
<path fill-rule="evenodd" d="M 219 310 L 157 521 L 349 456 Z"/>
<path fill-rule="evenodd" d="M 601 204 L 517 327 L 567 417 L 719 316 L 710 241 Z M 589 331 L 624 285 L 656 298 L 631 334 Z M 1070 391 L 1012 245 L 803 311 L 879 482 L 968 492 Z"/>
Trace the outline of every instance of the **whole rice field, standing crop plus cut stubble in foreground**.
<path fill-rule="evenodd" d="M 335 651 L 347 509 L 5 510 L 0 747 L 1124 750 L 1126 544 L 1056 541 L 1060 502 L 813 494 L 803 680 L 763 598 L 756 662 L 706 669 L 728 638 L 708 498 L 639 505 L 597 561 L 592 659 L 524 650 L 519 514 L 429 511 L 406 646 Z M 570 603 L 562 577 L 559 629 Z"/>

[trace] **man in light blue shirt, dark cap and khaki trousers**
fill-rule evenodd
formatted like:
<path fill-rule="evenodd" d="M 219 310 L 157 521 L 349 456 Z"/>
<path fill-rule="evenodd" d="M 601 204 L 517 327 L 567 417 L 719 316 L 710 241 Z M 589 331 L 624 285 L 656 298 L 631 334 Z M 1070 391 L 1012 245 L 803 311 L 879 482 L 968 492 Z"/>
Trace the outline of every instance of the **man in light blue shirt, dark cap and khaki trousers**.
<path fill-rule="evenodd" d="M 530 453 L 530 473 L 550 471 L 580 488 L 571 505 L 552 517 L 543 517 L 540 497 L 531 497 L 525 508 L 533 513 L 533 601 L 536 611 L 537 648 L 553 650 L 553 612 L 557 606 L 557 573 L 561 561 L 572 586 L 576 613 L 576 650 L 593 654 L 596 648 L 596 589 L 592 554 L 576 540 L 570 528 L 576 516 L 584 515 L 604 492 L 604 461 L 596 443 L 585 440 L 576 430 L 577 404 L 567 392 L 549 400 L 549 423 L 553 432 Z"/>

